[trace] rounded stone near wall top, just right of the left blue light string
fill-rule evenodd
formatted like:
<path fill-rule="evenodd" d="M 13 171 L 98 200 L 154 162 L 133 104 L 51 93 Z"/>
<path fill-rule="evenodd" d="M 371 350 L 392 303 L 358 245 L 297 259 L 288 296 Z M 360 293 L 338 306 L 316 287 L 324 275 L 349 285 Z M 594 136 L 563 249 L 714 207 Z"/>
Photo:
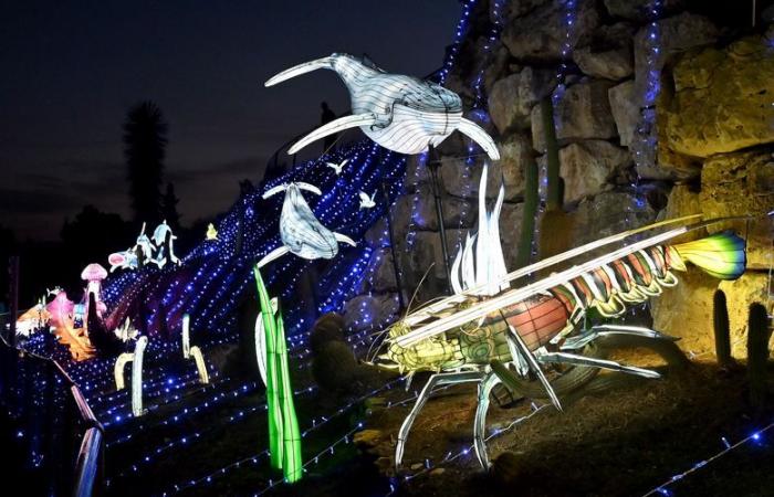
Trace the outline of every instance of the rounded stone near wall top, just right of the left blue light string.
<path fill-rule="evenodd" d="M 634 29 L 626 23 L 600 27 L 590 44 L 573 51 L 573 60 L 585 74 L 619 81 L 634 74 L 631 35 Z"/>

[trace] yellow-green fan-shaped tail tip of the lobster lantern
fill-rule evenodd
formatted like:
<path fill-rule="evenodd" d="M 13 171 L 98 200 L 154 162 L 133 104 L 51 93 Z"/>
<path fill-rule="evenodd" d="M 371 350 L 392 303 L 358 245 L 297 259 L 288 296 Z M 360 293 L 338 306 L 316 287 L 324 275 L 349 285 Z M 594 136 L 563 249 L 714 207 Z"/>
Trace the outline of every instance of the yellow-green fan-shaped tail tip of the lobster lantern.
<path fill-rule="evenodd" d="M 731 231 L 715 233 L 705 239 L 673 245 L 669 252 L 670 264 L 684 271 L 688 261 L 704 273 L 719 279 L 736 279 L 744 273 L 746 253 L 744 239 Z"/>

